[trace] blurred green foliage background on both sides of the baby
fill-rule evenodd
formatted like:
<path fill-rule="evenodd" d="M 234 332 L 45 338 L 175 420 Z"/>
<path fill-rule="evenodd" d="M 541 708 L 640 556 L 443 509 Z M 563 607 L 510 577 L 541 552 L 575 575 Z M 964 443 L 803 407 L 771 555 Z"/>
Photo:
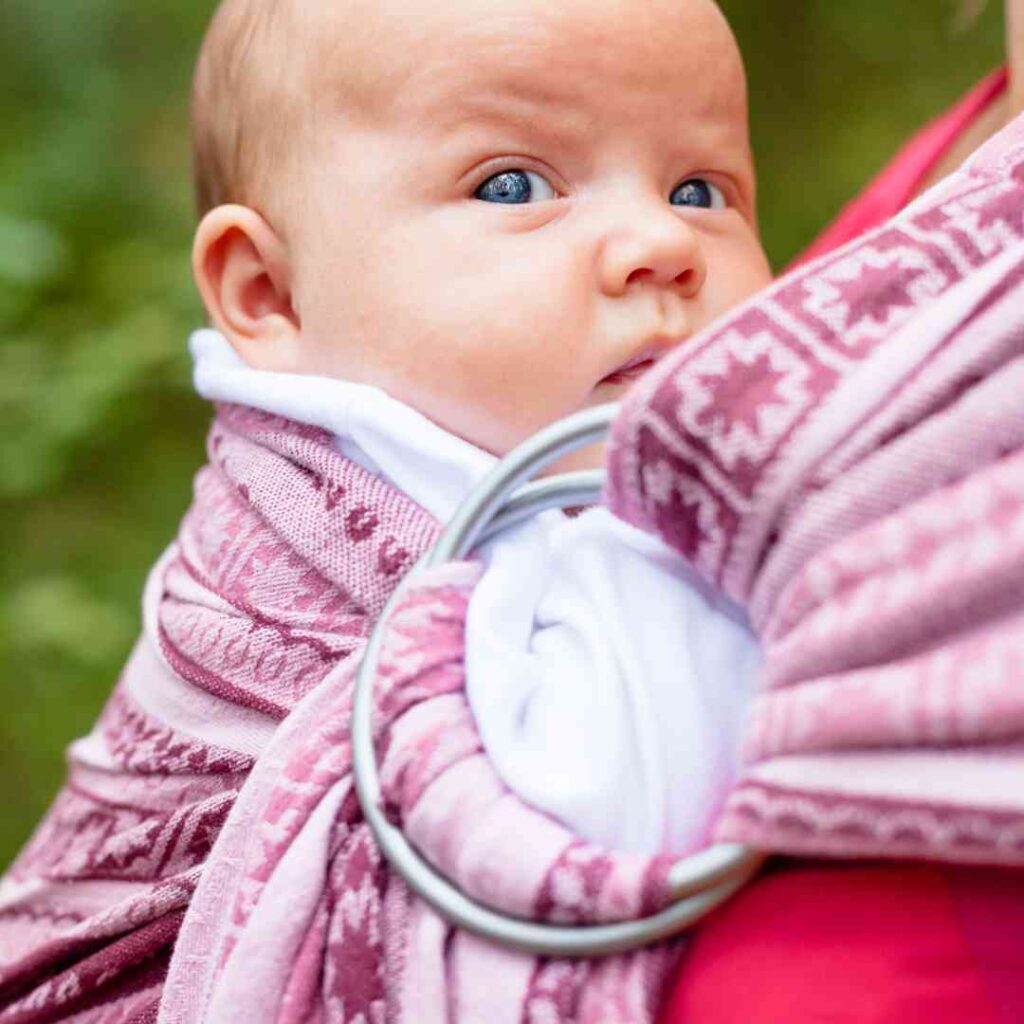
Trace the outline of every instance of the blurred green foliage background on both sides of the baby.
<path fill-rule="evenodd" d="M 1001 55 L 997 5 L 962 30 L 951 0 L 724 6 L 777 266 Z M 186 96 L 211 9 L 0 4 L 0 865 L 110 692 L 203 458 Z"/>

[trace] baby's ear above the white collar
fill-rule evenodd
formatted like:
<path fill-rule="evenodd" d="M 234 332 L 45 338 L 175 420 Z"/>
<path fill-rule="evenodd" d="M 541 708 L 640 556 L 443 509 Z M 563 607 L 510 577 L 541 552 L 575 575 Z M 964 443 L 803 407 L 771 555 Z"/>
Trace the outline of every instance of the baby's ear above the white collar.
<path fill-rule="evenodd" d="M 301 331 L 288 249 L 245 206 L 218 206 L 196 229 L 193 273 L 213 326 L 249 366 L 295 372 Z"/>

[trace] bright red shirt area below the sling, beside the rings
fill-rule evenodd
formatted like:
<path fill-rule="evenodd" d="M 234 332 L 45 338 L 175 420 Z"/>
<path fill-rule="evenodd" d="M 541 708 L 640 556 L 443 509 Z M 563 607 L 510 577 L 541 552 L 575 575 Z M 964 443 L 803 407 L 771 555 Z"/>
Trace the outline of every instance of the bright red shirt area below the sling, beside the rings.
<path fill-rule="evenodd" d="M 1024 871 L 792 862 L 695 931 L 662 1024 L 1021 1024 Z"/>

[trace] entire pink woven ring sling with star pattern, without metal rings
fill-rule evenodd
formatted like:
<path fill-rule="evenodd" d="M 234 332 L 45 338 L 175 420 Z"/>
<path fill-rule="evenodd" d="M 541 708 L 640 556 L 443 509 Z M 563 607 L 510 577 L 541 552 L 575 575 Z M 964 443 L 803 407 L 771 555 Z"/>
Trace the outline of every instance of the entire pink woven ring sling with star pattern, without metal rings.
<path fill-rule="evenodd" d="M 748 603 L 766 646 L 722 838 L 1024 860 L 1022 282 L 1024 122 L 630 396 L 609 501 Z M 435 524 L 317 430 L 223 408 L 210 457 L 125 675 L 0 889 L 0 1024 L 653 1019 L 674 947 L 490 948 L 412 898 L 361 821 L 352 679 Z M 435 572 L 389 625 L 391 816 L 515 912 L 664 905 L 664 861 L 580 843 L 482 754 L 476 571 Z"/>

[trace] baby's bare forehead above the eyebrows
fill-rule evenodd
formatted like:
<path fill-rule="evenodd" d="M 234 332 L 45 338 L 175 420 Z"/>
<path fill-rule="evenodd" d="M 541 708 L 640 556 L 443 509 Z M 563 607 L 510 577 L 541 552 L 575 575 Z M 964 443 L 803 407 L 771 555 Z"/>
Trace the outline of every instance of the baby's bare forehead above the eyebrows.
<path fill-rule="evenodd" d="M 322 18 L 324 88 L 375 126 L 505 114 L 600 131 L 633 112 L 729 122 L 745 79 L 711 0 L 349 0 Z M 394 10 L 388 10 L 394 8 Z M 384 16 L 389 14 L 390 16 Z M 398 16 L 403 14 L 404 16 Z"/>

